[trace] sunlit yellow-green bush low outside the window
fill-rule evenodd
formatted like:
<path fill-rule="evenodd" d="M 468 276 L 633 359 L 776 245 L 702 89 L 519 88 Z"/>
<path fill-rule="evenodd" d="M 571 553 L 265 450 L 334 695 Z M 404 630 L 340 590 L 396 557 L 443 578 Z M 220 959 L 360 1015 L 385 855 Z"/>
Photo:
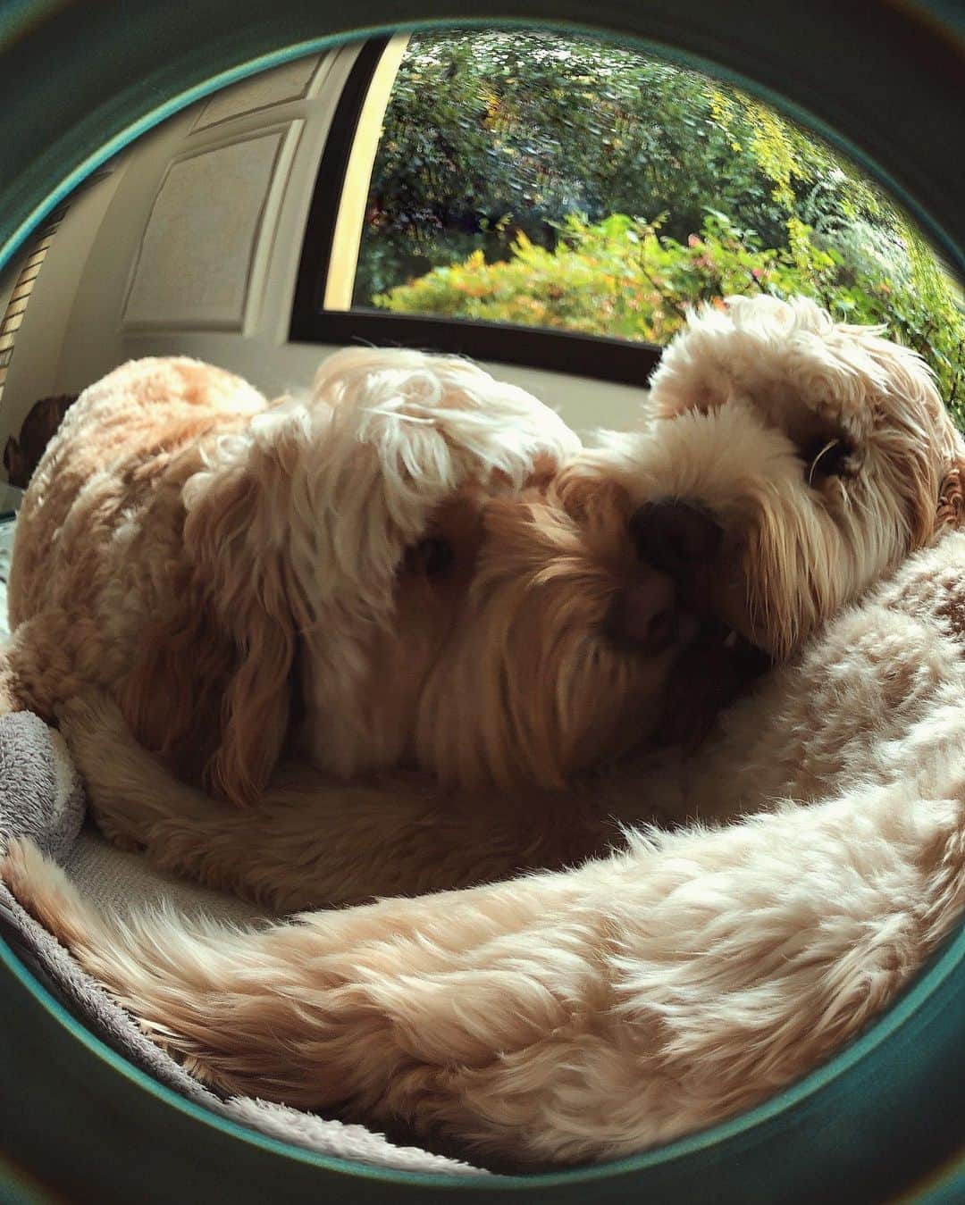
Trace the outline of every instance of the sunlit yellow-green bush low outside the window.
<path fill-rule="evenodd" d="M 375 298 L 399 313 L 448 315 L 487 322 L 555 327 L 665 343 L 685 307 L 728 294 L 805 294 L 847 322 L 882 323 L 919 351 L 938 378 L 959 424 L 965 319 L 958 293 L 926 248 L 910 248 L 904 275 L 885 277 L 822 247 L 800 219 L 788 246 L 763 247 L 749 230 L 707 211 L 700 235 L 679 242 L 661 221 L 611 214 L 599 223 L 570 216 L 553 251 L 519 233 L 510 258 L 490 264 L 481 249 Z M 910 260 L 924 255 L 923 264 Z"/>

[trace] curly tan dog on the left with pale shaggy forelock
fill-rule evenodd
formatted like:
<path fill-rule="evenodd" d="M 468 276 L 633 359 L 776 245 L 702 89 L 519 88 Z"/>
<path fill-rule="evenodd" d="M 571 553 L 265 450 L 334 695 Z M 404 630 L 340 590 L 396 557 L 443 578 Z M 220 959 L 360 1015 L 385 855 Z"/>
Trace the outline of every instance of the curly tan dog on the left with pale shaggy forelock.
<path fill-rule="evenodd" d="M 105 688 L 180 777 L 235 803 L 261 799 L 282 753 L 300 759 L 311 790 L 281 775 L 260 812 L 277 857 L 248 887 L 287 906 L 358 892 L 348 868 L 369 858 L 379 798 L 422 840 L 410 889 L 525 865 L 507 860 L 518 824 L 502 841 L 494 824 L 489 862 L 455 842 L 455 874 L 428 840 L 426 795 L 496 788 L 518 812 L 520 790 L 558 792 L 653 727 L 687 635 L 625 499 L 567 484 L 578 453 L 554 412 L 452 358 L 342 352 L 311 398 L 272 406 L 192 360 L 124 365 L 71 407 L 24 500 L 19 701 L 49 715 Z M 426 778 L 336 786 L 399 769 Z M 312 794 L 314 844 L 293 857 L 292 812 Z M 116 839 L 180 857 L 136 793 L 92 799 Z M 230 833 L 253 850 L 222 813 L 202 835 L 186 793 L 181 844 L 213 882 L 249 860 Z M 319 876 L 334 848 L 339 890 Z M 557 824 L 537 860 L 582 852 Z"/>

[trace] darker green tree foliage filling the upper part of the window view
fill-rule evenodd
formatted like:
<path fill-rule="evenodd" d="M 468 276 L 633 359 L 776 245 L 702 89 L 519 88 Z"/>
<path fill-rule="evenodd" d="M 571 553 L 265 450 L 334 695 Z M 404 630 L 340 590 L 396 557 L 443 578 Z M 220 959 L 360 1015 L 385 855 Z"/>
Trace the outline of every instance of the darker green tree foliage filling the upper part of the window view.
<path fill-rule="evenodd" d="M 879 212 L 871 188 L 766 106 L 636 49 L 420 35 L 386 113 L 355 301 L 473 249 L 502 258 L 519 231 L 552 248 L 575 212 L 665 212 L 665 233 L 685 241 L 712 204 L 783 246 L 804 198 L 816 228 Z"/>

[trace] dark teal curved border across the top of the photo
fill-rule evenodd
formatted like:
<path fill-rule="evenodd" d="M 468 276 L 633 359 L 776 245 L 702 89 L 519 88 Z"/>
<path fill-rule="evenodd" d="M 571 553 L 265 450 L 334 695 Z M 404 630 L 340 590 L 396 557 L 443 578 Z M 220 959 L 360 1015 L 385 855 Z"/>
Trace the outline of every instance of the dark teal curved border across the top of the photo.
<path fill-rule="evenodd" d="M 393 0 L 357 0 L 351 30 L 340 28 L 333 7 L 320 0 L 8 2 L 0 10 L 0 53 L 16 102 L 0 143 L 0 268 L 106 158 L 226 83 L 360 34 L 552 23 L 629 39 L 773 104 L 879 180 L 953 270 L 965 271 L 955 196 L 955 139 L 965 128 L 961 41 L 942 0 L 594 0 L 592 17 L 586 0 L 499 0 L 484 14 L 471 0 L 412 0 L 405 20 Z M 29 188 L 18 186 L 18 170 Z"/>

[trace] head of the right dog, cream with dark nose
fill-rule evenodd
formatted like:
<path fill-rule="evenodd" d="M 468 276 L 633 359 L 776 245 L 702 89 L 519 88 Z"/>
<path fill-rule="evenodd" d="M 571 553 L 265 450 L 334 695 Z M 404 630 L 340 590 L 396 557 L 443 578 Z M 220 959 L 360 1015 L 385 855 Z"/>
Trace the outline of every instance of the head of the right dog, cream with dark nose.
<path fill-rule="evenodd" d="M 965 445 L 922 358 L 806 298 L 705 306 L 651 404 L 599 453 L 641 552 L 777 658 L 961 519 Z"/>

